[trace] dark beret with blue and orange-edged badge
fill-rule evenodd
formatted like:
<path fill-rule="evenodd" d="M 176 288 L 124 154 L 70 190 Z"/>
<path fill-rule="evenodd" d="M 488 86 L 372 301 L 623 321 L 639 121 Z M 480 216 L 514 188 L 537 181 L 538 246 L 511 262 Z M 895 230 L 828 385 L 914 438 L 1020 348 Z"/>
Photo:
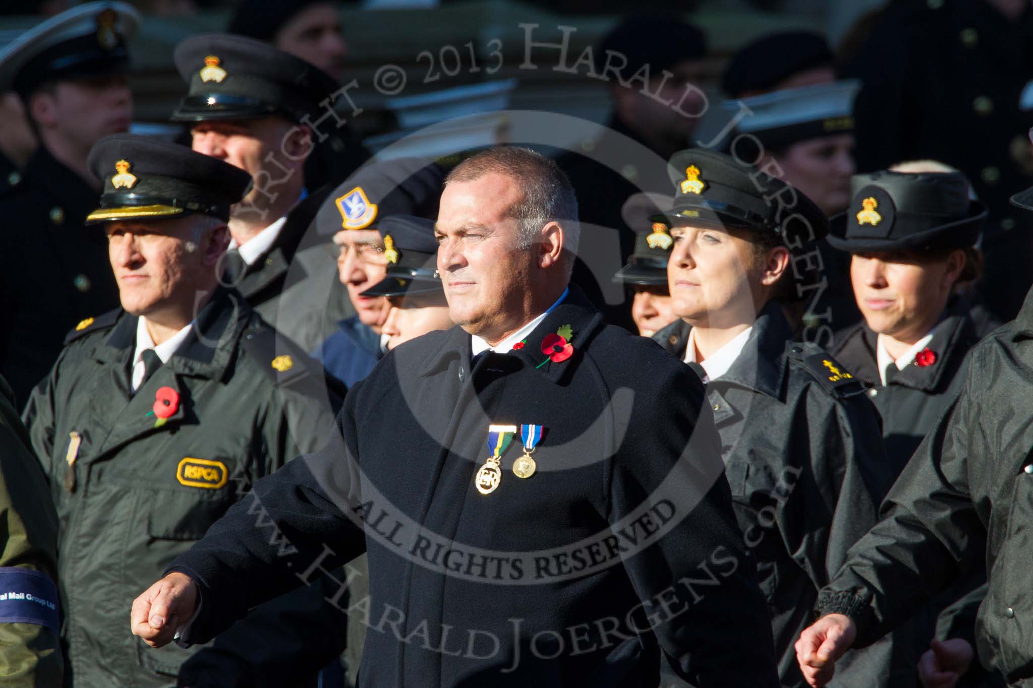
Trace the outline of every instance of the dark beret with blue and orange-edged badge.
<path fill-rule="evenodd" d="M 375 229 L 378 218 L 411 215 L 437 220 L 445 172 L 418 158 L 371 162 L 331 192 L 316 214 L 323 235 L 342 229 Z"/>

